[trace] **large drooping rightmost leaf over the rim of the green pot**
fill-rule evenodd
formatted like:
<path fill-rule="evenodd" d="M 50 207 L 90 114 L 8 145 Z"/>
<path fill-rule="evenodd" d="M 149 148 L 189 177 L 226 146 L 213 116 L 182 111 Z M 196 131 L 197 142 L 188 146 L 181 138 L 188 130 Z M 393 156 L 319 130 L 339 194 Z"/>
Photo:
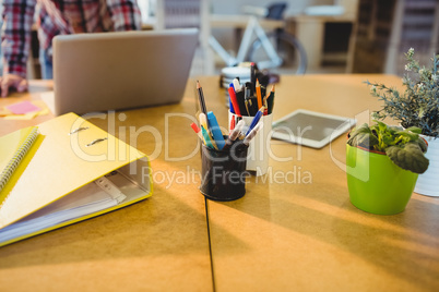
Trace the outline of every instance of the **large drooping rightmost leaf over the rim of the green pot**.
<path fill-rule="evenodd" d="M 385 154 L 393 163 L 415 173 L 424 173 L 429 165 L 417 143 L 411 142 L 403 147 L 390 146 L 385 149 Z"/>

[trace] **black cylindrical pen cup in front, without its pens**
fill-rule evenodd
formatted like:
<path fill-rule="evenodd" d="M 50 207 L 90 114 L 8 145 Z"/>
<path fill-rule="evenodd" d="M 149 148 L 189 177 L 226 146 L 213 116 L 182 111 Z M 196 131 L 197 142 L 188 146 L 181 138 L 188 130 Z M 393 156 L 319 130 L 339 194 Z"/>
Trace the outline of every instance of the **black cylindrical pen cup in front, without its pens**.
<path fill-rule="evenodd" d="M 202 145 L 201 193 L 213 200 L 234 200 L 246 194 L 247 149 L 237 141 L 226 150 Z"/>

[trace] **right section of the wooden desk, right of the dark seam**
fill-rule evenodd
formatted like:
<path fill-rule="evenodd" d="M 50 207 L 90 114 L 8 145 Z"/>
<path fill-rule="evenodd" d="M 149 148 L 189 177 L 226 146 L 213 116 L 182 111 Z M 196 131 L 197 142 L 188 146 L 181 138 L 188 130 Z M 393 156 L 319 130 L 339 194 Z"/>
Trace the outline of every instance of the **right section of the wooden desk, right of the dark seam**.
<path fill-rule="evenodd" d="M 273 119 L 300 108 L 353 118 L 379 109 L 366 80 L 401 85 L 384 75 L 282 76 Z M 271 159 L 273 175 L 251 178 L 241 199 L 209 200 L 217 291 L 438 290 L 439 198 L 414 194 L 395 216 L 358 210 L 335 162 L 345 161 L 345 143 L 316 150 L 272 141 L 274 155 L 293 160 Z"/>

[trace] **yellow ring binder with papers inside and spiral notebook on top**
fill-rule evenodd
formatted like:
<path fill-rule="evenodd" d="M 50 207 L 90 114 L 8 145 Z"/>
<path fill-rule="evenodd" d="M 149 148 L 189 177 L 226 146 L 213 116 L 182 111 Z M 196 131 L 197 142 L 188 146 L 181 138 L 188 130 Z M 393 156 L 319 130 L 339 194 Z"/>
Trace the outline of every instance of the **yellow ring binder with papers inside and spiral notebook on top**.
<path fill-rule="evenodd" d="M 147 157 L 68 113 L 0 137 L 0 246 L 147 198 Z"/>

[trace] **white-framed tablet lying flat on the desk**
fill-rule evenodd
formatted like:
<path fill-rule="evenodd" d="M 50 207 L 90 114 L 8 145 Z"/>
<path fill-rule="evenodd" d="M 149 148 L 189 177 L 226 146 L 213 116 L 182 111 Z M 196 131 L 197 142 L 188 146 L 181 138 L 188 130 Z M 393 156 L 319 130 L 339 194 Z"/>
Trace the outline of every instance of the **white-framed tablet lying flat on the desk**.
<path fill-rule="evenodd" d="M 321 148 L 355 126 L 356 120 L 298 109 L 273 122 L 272 137 Z"/>

